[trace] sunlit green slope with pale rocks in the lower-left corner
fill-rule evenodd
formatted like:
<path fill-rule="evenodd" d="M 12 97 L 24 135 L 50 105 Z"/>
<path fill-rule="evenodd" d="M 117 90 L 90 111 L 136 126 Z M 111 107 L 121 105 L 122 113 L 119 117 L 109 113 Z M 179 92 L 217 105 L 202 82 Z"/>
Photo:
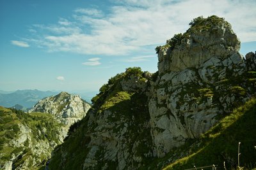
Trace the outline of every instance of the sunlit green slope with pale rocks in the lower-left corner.
<path fill-rule="evenodd" d="M 39 169 L 67 130 L 51 114 L 0 106 L 0 169 Z"/>

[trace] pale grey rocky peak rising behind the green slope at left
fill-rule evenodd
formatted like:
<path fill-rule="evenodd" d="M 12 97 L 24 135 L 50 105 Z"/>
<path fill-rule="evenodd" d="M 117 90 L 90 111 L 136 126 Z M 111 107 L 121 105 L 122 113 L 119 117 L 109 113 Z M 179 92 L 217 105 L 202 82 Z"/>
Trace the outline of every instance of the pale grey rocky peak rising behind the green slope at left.
<path fill-rule="evenodd" d="M 51 113 L 61 123 L 70 127 L 70 125 L 85 117 L 90 108 L 90 104 L 83 101 L 80 96 L 61 92 L 56 96 L 40 100 L 29 110 L 29 113 L 36 111 Z"/>

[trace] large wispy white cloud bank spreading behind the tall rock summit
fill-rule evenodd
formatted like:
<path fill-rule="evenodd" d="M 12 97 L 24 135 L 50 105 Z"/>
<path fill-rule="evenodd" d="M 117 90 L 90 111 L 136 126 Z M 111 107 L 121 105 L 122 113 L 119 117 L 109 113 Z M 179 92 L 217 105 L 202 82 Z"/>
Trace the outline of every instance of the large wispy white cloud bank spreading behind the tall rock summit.
<path fill-rule="evenodd" d="M 163 45 L 174 34 L 185 32 L 189 22 L 201 15 L 224 17 L 242 42 L 256 41 L 256 13 L 248 10 L 256 6 L 253 0 L 113 2 L 117 3 L 106 15 L 94 8 L 77 8 L 72 21 L 61 18 L 56 24 L 39 25 L 41 32 L 36 30 L 34 42 L 49 52 L 125 55 L 143 46 Z M 84 65 L 89 64 L 90 61 Z"/>

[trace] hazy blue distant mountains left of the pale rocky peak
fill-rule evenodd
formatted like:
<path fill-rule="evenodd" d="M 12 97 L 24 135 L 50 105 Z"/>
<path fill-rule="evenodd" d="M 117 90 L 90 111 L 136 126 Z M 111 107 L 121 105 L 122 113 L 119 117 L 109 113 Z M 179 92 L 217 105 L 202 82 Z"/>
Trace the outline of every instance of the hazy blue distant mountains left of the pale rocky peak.
<path fill-rule="evenodd" d="M 4 107 L 12 107 L 20 104 L 25 108 L 32 108 L 40 99 L 44 97 L 58 94 L 51 91 L 40 90 L 17 90 L 10 94 L 0 94 L 0 105 Z"/>

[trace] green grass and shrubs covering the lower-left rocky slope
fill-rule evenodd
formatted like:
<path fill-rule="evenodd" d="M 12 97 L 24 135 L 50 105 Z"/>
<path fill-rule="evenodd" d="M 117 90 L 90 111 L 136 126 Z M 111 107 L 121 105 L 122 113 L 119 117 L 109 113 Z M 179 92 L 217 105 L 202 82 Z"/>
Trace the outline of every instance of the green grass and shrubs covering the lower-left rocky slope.
<path fill-rule="evenodd" d="M 12 139 L 17 139 L 20 136 L 19 125 L 23 124 L 31 129 L 31 141 L 30 143 L 35 143 L 35 141 L 55 141 L 60 144 L 56 134 L 58 134 L 58 127 L 61 126 L 51 114 L 45 113 L 24 113 L 23 111 L 10 110 L 0 106 L 0 167 L 4 162 L 12 158 L 12 154 L 16 156 L 19 155 L 20 159 L 15 160 L 15 166 L 20 166 L 24 160 L 28 157 L 35 157 L 31 153 L 31 148 L 29 148 L 29 142 L 24 143 L 24 147 L 15 147 L 10 145 Z M 45 128 L 45 133 L 42 129 Z M 41 132 L 39 132 L 40 130 Z M 51 150 L 51 148 L 48 148 Z M 53 148 L 52 148 L 53 149 Z M 51 151 L 50 151 L 51 152 Z M 40 155 L 38 160 L 47 159 L 49 155 Z M 32 169 L 40 168 L 33 167 Z"/>

